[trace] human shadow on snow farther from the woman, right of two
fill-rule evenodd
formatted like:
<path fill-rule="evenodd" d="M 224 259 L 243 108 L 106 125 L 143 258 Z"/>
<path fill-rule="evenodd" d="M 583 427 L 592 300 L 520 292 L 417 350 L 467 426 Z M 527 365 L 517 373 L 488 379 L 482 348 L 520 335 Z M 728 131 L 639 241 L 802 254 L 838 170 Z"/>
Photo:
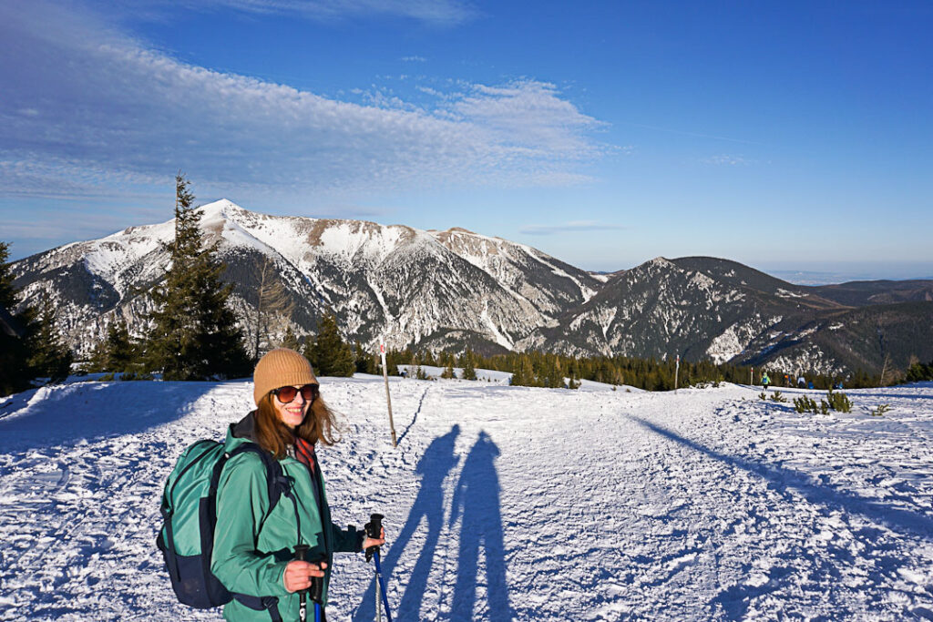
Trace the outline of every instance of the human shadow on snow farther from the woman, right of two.
<path fill-rule="evenodd" d="M 506 584 L 499 477 L 494 463 L 498 455 L 499 448 L 493 440 L 485 432 L 480 432 L 453 491 L 450 524 L 453 525 L 461 515 L 463 518 L 451 620 L 473 619 L 477 575 L 480 573 L 480 547 L 485 558 L 488 605 L 483 619 L 502 622 L 513 617 Z"/>

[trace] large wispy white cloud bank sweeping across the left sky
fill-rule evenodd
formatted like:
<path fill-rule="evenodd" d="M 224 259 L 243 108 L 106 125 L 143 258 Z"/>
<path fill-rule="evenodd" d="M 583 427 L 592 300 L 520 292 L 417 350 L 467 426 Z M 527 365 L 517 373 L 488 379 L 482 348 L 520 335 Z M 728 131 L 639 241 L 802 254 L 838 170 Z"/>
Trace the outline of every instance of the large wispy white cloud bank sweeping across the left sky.
<path fill-rule="evenodd" d="M 143 191 L 179 168 L 202 195 L 242 200 L 553 186 L 587 181 L 578 166 L 604 152 L 591 135 L 601 123 L 533 79 L 458 84 L 429 105 L 391 93 L 350 103 L 179 62 L 63 7 L 11 4 L 0 195 Z"/>

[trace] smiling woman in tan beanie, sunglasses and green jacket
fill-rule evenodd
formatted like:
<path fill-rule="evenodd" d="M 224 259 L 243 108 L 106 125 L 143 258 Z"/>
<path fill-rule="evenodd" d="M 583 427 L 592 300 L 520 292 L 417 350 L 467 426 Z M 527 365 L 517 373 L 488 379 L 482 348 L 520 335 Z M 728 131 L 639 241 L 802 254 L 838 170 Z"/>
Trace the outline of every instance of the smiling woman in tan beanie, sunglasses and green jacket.
<path fill-rule="evenodd" d="M 327 603 L 334 551 L 358 552 L 385 541 L 330 521 L 314 445 L 334 443 L 334 415 L 318 394 L 308 360 L 292 350 L 273 350 L 259 360 L 253 384 L 257 409 L 230 425 L 225 449 L 230 453 L 252 442 L 269 451 L 290 479 L 292 496 L 282 496 L 270 511 L 260 456 L 232 456 L 217 488 L 211 571 L 234 594 L 224 606 L 226 619 L 297 620 L 297 592 L 311 587 L 312 577 L 324 577 Z M 307 561 L 295 559 L 298 545 L 308 546 Z"/>

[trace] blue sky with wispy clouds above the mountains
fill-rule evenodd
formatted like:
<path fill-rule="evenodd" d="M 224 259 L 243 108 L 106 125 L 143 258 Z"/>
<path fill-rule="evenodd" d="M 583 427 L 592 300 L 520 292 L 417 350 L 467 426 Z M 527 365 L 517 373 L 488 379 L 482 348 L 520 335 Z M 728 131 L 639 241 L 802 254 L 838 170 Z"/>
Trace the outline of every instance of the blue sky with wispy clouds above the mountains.
<path fill-rule="evenodd" d="M 933 4 L 8 0 L 14 257 L 202 202 L 933 276 Z"/>

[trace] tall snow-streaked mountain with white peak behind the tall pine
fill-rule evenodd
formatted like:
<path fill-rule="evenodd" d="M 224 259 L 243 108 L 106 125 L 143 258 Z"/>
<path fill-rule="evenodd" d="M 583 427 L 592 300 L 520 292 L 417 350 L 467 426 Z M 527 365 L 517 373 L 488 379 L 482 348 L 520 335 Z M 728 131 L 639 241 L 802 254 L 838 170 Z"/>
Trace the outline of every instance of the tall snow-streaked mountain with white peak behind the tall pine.
<path fill-rule="evenodd" d="M 504 352 L 602 285 L 529 246 L 459 228 L 272 216 L 229 200 L 203 206 L 201 226 L 219 242 L 242 323 L 255 317 L 258 274 L 270 261 L 296 303 L 299 335 L 329 308 L 363 343 L 385 335 L 390 346 Z M 48 291 L 68 340 L 88 352 L 115 314 L 139 324 L 143 294 L 169 263 L 161 244 L 173 235 L 169 221 L 67 244 L 17 262 L 17 284 L 27 301 Z"/>

